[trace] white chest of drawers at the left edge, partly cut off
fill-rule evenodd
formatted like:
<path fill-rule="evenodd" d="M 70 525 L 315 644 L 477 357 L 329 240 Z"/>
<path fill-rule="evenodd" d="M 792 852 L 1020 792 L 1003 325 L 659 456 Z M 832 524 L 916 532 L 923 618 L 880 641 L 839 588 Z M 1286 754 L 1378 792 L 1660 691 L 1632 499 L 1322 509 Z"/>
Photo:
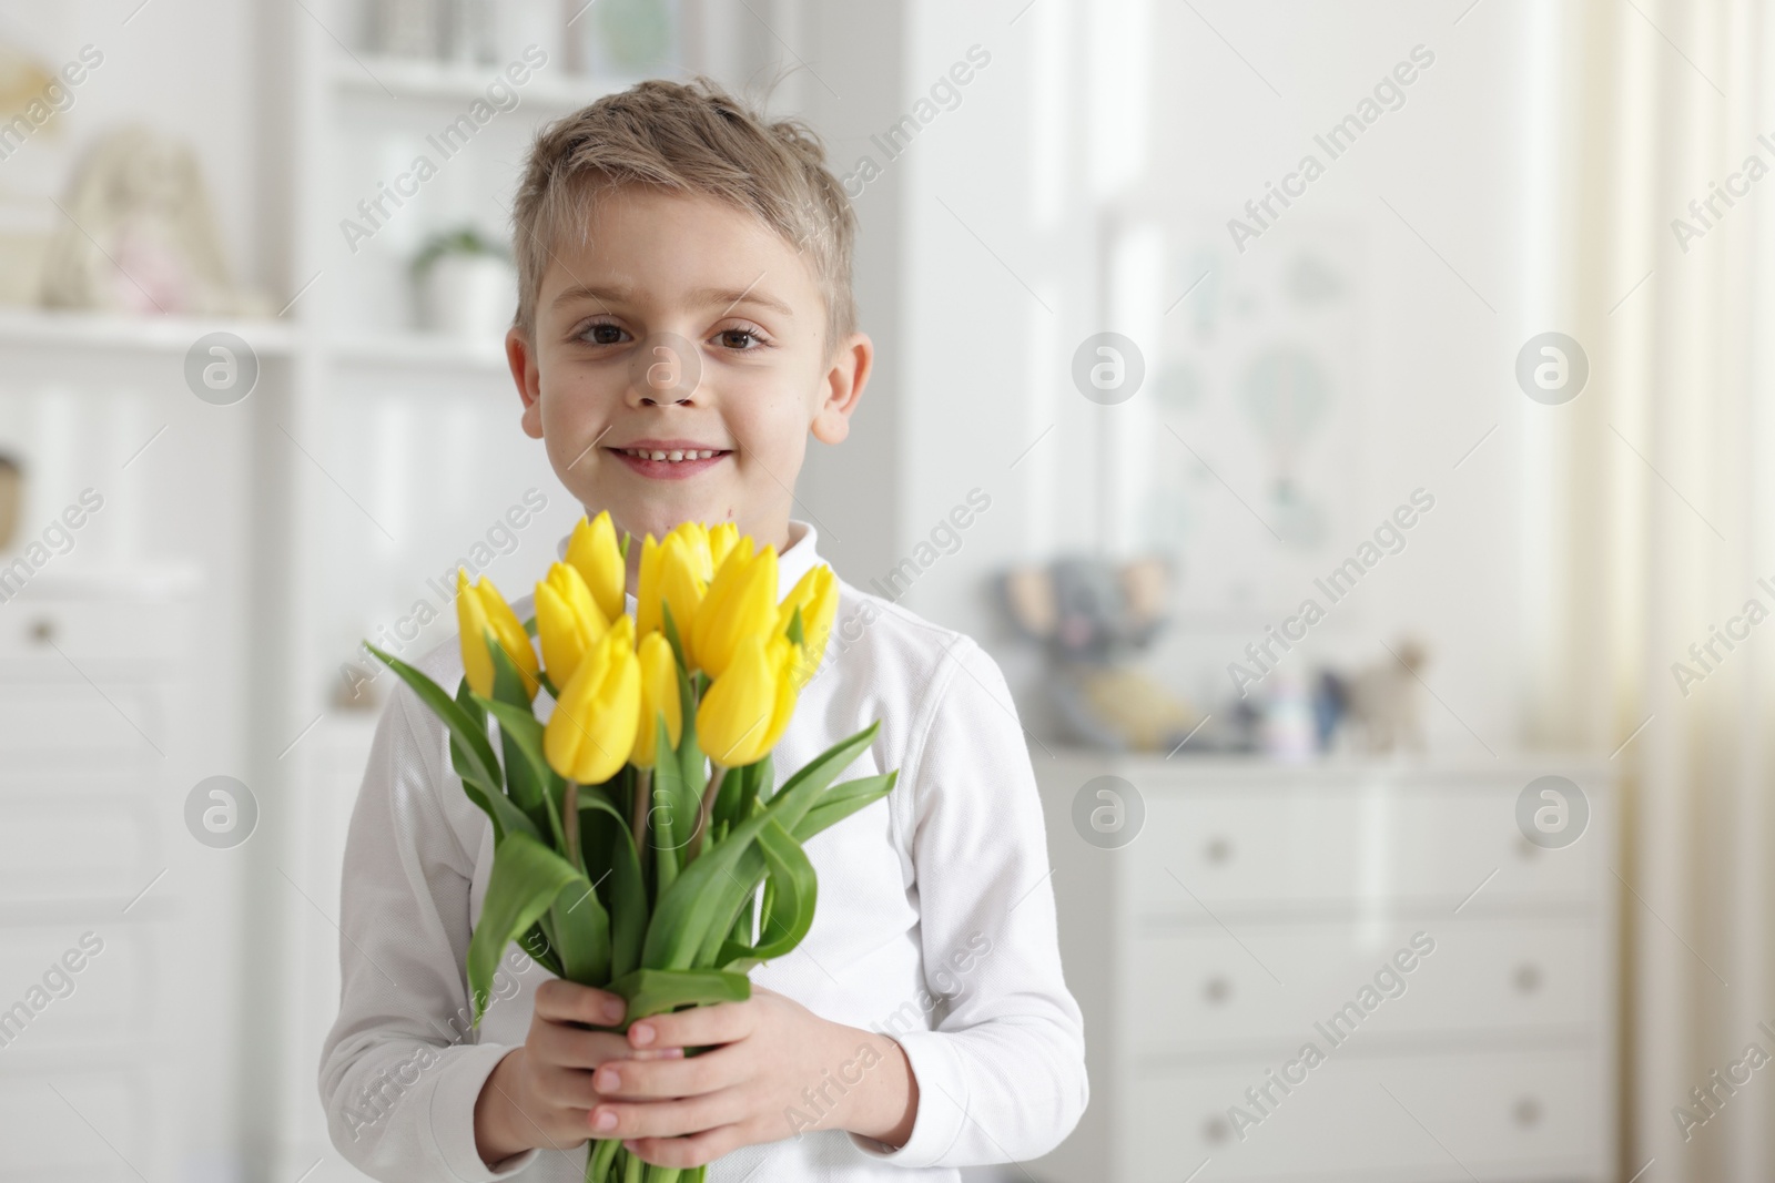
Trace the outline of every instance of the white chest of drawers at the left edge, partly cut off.
<path fill-rule="evenodd" d="M 37 575 L 0 605 L 0 1179 L 174 1176 L 193 646 L 185 568 Z M 76 968 L 78 967 L 78 968 Z M 199 1023 L 201 1025 L 201 1023 Z M 202 1066 L 202 1064 L 199 1064 Z"/>

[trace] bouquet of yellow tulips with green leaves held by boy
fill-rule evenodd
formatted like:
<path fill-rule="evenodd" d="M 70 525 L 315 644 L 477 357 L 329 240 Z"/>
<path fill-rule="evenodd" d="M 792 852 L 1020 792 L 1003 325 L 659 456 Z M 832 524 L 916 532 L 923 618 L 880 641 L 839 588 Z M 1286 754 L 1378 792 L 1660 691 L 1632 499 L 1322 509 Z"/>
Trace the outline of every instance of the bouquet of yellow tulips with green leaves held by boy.
<path fill-rule="evenodd" d="M 493 584 L 456 578 L 456 693 L 366 647 L 449 731 L 463 791 L 493 825 L 493 871 L 469 942 L 481 1022 L 493 970 L 518 940 L 557 977 L 648 1015 L 751 997 L 746 974 L 813 926 L 815 834 L 893 789 L 898 772 L 834 784 L 877 724 L 832 745 L 781 789 L 770 748 L 818 670 L 838 608 L 815 566 L 777 598 L 777 555 L 733 523 L 646 536 L 635 615 L 623 598 L 632 537 L 580 518 L 566 560 L 518 621 Z M 541 658 L 531 639 L 541 642 Z M 554 699 L 548 724 L 534 699 Z M 490 724 L 497 724 L 495 752 Z M 754 933 L 754 899 L 763 892 Z M 616 1139 L 588 1148 L 588 1183 L 701 1183 Z"/>

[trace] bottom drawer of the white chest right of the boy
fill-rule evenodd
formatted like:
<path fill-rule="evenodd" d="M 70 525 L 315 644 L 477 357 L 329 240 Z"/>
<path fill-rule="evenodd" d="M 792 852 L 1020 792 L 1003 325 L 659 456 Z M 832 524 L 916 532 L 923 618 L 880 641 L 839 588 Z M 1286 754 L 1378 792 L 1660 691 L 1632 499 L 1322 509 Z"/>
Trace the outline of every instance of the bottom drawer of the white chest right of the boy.
<path fill-rule="evenodd" d="M 1322 1046 L 1322 1045 L 1321 1045 Z M 1292 1059 L 1292 1057 L 1290 1057 Z M 1140 1080 L 1113 1137 L 1127 1179 L 1601 1179 L 1608 1098 L 1594 1064 L 1566 1054 L 1358 1059 L 1329 1052 L 1258 1112 L 1244 1096 L 1282 1061 Z M 1392 1096 L 1388 1096 L 1392 1094 Z M 1397 1100 L 1395 1100 L 1397 1098 Z M 1230 1107 L 1257 1119 L 1235 1132 Z M 1242 1135 L 1242 1137 L 1241 1137 Z"/>

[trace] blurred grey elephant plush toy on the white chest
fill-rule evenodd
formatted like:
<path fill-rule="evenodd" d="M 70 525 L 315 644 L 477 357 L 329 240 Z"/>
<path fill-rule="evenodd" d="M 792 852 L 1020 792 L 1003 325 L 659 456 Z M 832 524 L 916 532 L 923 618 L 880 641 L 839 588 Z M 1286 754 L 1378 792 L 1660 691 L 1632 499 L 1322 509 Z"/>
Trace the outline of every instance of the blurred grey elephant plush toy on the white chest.
<path fill-rule="evenodd" d="M 1196 725 L 1186 702 L 1125 665 L 1164 630 L 1170 578 L 1163 557 L 1069 557 L 999 576 L 1012 624 L 1047 647 L 1053 669 L 1044 685 L 1067 740 L 1170 752 Z"/>

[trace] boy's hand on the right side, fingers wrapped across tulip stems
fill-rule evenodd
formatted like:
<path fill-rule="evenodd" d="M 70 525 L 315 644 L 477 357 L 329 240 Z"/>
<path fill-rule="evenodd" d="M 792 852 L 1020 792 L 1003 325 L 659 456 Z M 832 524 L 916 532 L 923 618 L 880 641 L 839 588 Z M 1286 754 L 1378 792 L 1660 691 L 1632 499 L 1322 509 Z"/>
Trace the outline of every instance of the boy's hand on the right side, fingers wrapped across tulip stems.
<path fill-rule="evenodd" d="M 685 1048 L 714 1046 L 685 1057 Z M 827 1022 L 753 986 L 746 1002 L 637 1020 L 630 1057 L 593 1073 L 593 1137 L 621 1137 L 643 1160 L 698 1167 L 740 1146 L 848 1130 L 902 1146 L 918 1116 L 918 1080 L 900 1045 Z M 666 1057 L 643 1059 L 648 1052 Z"/>

